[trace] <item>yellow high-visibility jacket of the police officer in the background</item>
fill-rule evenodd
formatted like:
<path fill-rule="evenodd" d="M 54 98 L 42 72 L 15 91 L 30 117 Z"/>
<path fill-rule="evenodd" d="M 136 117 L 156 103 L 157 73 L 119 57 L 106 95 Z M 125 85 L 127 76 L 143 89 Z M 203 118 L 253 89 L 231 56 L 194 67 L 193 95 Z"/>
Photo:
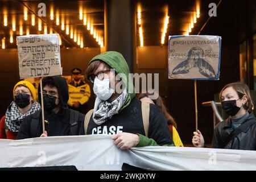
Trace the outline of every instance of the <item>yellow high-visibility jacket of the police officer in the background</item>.
<path fill-rule="evenodd" d="M 90 98 L 90 86 L 84 84 L 81 86 L 73 86 L 68 84 L 69 100 L 68 105 L 73 106 L 74 102 L 79 102 L 81 105 L 88 102 Z"/>

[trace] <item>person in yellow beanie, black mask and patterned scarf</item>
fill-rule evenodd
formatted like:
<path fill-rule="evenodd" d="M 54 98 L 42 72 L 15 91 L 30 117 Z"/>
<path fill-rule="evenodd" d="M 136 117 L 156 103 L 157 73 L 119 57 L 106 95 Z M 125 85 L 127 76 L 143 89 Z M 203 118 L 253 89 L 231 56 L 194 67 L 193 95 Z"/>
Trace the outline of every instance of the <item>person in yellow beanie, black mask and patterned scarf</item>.
<path fill-rule="evenodd" d="M 28 81 L 19 81 L 14 86 L 13 97 L 14 101 L 0 121 L 0 138 L 16 139 L 23 118 L 41 108 L 36 102 L 35 87 Z"/>

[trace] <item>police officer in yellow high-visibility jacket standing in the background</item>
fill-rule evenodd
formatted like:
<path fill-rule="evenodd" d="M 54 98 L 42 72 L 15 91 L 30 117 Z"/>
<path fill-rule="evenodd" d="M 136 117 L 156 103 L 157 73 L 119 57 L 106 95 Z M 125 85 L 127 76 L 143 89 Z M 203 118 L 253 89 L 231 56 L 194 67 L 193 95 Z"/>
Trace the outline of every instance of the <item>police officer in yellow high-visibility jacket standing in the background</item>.
<path fill-rule="evenodd" d="M 90 98 L 90 86 L 82 79 L 82 71 L 79 68 L 72 69 L 72 81 L 68 84 L 68 105 L 73 110 L 86 114 L 88 106 L 86 102 Z"/>

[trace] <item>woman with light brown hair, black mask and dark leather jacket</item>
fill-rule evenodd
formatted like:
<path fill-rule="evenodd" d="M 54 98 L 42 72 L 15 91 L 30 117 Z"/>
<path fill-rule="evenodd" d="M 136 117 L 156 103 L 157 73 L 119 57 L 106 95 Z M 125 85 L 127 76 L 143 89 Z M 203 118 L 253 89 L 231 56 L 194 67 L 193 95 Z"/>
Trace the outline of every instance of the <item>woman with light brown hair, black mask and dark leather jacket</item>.
<path fill-rule="evenodd" d="M 256 119 L 250 90 L 241 82 L 225 85 L 220 92 L 222 109 L 230 117 L 214 129 L 212 147 L 237 150 L 256 150 Z M 199 130 L 193 133 L 195 147 L 205 147 Z"/>

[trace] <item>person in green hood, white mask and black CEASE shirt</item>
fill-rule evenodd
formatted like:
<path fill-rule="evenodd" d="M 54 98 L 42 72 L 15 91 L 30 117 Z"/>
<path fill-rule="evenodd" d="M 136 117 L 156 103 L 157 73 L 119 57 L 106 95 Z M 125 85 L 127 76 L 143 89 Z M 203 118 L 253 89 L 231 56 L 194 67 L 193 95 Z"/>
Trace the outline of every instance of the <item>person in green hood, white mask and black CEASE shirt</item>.
<path fill-rule="evenodd" d="M 145 141 L 151 140 L 144 140 L 146 133 L 160 145 L 173 144 L 164 115 L 155 105 L 150 105 L 148 131 L 144 131 L 142 102 L 135 98 L 129 73 L 126 60 L 119 52 L 108 51 L 90 60 L 86 76 L 93 83 L 97 97 L 94 110 L 86 114 L 85 133 L 112 134 L 114 144 L 122 150 L 147 146 L 149 143 Z"/>

